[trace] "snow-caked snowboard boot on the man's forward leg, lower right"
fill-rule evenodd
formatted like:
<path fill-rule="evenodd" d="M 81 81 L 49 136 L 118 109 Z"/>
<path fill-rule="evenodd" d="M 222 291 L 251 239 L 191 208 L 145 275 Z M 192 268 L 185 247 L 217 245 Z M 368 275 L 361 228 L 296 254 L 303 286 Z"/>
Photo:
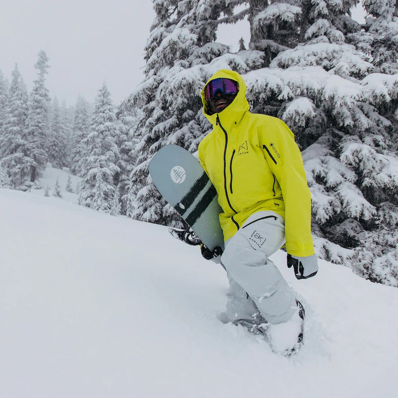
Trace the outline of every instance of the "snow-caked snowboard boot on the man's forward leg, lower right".
<path fill-rule="evenodd" d="M 302 345 L 305 311 L 302 304 L 296 300 L 297 310 L 286 322 L 268 324 L 267 335 L 274 352 L 290 356 Z"/>

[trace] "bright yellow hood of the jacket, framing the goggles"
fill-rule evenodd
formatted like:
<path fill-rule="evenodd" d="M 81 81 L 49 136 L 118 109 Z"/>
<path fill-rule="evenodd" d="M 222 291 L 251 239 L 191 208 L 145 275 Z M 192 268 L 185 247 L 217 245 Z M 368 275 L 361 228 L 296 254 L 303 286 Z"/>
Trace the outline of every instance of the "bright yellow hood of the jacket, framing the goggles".
<path fill-rule="evenodd" d="M 211 78 L 206 82 L 206 85 L 208 82 L 210 82 L 210 80 L 218 78 L 231 79 L 234 80 L 235 82 L 238 82 L 239 84 L 239 91 L 235 99 L 232 101 L 232 103 L 229 106 L 227 106 L 224 110 L 218 113 L 219 117 L 222 118 L 223 120 L 238 122 L 242 118 L 243 114 L 250 108 L 249 102 L 246 100 L 246 84 L 243 81 L 242 76 L 239 75 L 239 73 L 228 69 L 221 69 L 218 72 L 216 72 L 213 76 L 211 76 Z M 204 85 L 204 87 L 206 85 Z M 215 125 L 217 113 L 214 113 L 212 115 L 209 115 L 207 113 L 206 100 L 204 99 L 204 87 L 200 92 L 203 103 L 203 114 L 204 116 L 206 116 L 206 118 L 210 121 L 212 125 Z"/>

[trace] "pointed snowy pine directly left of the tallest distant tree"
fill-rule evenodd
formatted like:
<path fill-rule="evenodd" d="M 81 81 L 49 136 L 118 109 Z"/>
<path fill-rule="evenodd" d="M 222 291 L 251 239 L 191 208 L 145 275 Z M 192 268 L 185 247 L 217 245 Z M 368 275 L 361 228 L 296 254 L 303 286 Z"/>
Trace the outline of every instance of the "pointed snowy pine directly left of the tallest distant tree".
<path fill-rule="evenodd" d="M 25 190 L 24 184 L 30 177 L 26 139 L 28 95 L 17 65 L 11 76 L 8 102 L 3 112 L 3 134 L 0 136 L 0 165 L 7 173 L 11 187 Z"/>

